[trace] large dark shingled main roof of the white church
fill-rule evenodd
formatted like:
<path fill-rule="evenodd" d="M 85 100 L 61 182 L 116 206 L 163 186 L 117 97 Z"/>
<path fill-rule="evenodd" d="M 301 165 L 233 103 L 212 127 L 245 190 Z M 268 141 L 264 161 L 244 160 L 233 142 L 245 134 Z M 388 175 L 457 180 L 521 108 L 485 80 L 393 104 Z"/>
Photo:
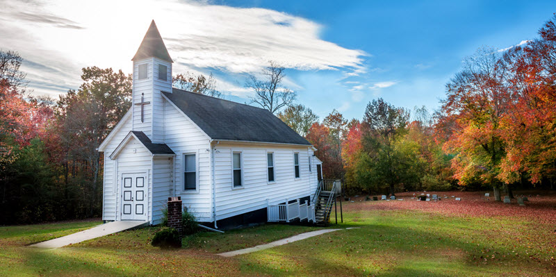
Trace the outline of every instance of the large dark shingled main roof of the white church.
<path fill-rule="evenodd" d="M 176 88 L 162 93 L 213 140 L 311 145 L 268 110 Z"/>

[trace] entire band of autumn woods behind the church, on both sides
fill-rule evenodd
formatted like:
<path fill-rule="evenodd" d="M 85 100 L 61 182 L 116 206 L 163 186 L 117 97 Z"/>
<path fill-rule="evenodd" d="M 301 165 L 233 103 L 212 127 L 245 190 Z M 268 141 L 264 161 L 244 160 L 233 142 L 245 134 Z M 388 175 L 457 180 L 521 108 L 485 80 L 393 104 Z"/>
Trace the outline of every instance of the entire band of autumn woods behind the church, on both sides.
<path fill-rule="evenodd" d="M 554 188 L 555 22 L 526 44 L 466 58 L 434 112 L 375 99 L 361 119 L 332 110 L 320 121 L 295 103 L 275 62 L 245 86 L 254 92 L 251 103 L 316 146 L 325 178 L 343 178 L 354 193 L 466 188 L 512 196 L 512 188 Z M 53 100 L 30 93 L 22 61 L 0 51 L 0 224 L 97 217 L 103 174 L 97 147 L 131 106 L 131 75 L 86 67 L 79 89 Z M 212 75 L 172 81 L 223 97 Z"/>

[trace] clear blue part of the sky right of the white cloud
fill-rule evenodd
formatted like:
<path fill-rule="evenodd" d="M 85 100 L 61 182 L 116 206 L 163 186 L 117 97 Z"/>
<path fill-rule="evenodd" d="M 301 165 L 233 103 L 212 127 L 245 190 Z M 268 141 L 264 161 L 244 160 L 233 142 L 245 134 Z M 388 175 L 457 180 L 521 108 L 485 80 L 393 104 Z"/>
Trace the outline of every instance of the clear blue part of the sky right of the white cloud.
<path fill-rule="evenodd" d="M 247 3 L 246 3 L 247 2 Z M 335 72 L 288 72 L 306 88 L 300 102 L 318 115 L 341 108 L 361 118 L 368 101 L 382 97 L 395 106 L 439 107 L 444 85 L 461 60 L 479 47 L 499 49 L 537 37 L 556 12 L 556 1 L 221 1 L 263 7 L 311 19 L 325 26 L 321 37 L 348 49 L 361 49 L 366 74 L 341 81 Z M 318 7 L 318 8 L 317 8 Z M 346 82 L 365 84 L 360 101 Z M 392 82 L 375 88 L 373 84 Z M 321 97 L 321 95 L 323 97 Z M 346 107 L 342 107 L 349 103 Z"/>

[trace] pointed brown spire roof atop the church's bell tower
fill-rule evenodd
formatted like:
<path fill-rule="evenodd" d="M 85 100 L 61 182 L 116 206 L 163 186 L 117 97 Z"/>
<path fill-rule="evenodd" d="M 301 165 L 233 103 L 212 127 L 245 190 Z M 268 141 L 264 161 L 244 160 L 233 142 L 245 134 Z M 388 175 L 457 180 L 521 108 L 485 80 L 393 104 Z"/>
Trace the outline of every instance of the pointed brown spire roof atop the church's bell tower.
<path fill-rule="evenodd" d="M 143 37 L 143 41 L 137 53 L 131 60 L 136 61 L 145 58 L 159 58 L 167 62 L 174 62 L 172 58 L 170 58 L 170 54 L 164 45 L 161 33 L 158 33 L 158 28 L 156 28 L 154 20 L 151 22 L 151 26 L 149 26 L 149 30 L 147 30 L 145 37 Z"/>

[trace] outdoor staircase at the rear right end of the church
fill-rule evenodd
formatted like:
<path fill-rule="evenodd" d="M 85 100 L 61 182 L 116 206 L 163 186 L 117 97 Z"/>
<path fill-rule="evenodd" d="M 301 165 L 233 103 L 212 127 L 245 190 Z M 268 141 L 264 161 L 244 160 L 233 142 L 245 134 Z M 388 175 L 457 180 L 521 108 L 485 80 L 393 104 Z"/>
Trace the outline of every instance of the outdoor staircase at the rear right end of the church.
<path fill-rule="evenodd" d="M 315 196 L 313 196 L 316 224 L 328 225 L 335 197 L 336 183 L 334 183 L 334 180 L 321 180 L 318 183 L 318 188 L 315 192 Z"/>

